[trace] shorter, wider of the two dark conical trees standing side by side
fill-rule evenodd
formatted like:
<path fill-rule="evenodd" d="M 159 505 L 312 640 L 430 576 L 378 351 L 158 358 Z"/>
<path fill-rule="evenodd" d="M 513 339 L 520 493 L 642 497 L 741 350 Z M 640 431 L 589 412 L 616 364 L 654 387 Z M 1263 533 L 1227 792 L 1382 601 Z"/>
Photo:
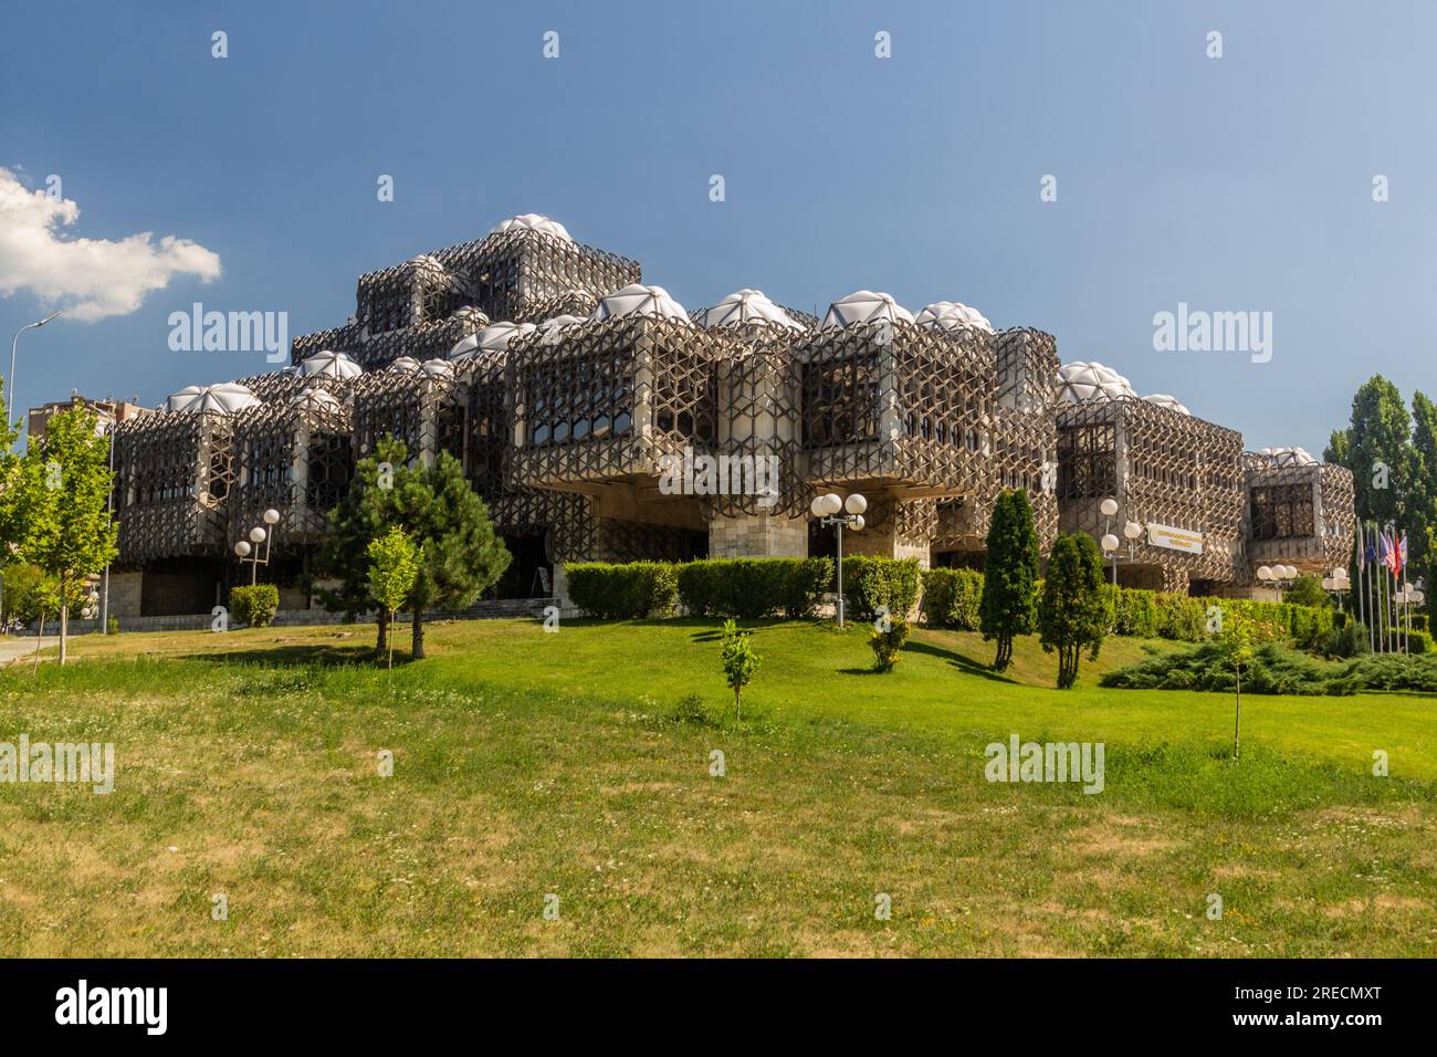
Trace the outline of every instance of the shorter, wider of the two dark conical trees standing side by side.
<path fill-rule="evenodd" d="M 1058 536 L 1038 603 L 1038 631 L 1045 653 L 1058 650 L 1059 690 L 1076 682 L 1083 649 L 1091 657 L 1098 656 L 1106 630 L 1108 605 L 1098 545 L 1086 532 Z"/>

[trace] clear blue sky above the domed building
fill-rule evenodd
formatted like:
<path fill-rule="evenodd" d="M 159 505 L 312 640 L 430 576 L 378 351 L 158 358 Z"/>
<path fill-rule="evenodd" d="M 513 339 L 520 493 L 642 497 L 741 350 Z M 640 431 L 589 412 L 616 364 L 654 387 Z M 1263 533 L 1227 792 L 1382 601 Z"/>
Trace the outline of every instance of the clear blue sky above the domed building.
<path fill-rule="evenodd" d="M 26 334 L 17 404 L 264 370 L 171 351 L 170 312 L 338 325 L 361 272 L 537 211 L 688 308 L 961 301 L 1249 447 L 1321 452 L 1369 374 L 1437 390 L 1434 45 L 1421 1 L 7 4 L 0 167 L 62 177 L 69 239 L 223 263 Z M 0 298 L 0 335 L 42 301 Z M 1154 351 L 1178 302 L 1272 312 L 1272 361 Z"/>

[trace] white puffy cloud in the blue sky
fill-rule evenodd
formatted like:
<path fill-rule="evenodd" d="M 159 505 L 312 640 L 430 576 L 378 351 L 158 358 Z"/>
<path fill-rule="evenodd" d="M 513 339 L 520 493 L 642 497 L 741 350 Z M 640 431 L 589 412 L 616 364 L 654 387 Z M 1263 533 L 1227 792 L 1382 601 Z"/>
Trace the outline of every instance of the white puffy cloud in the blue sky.
<path fill-rule="evenodd" d="M 220 278 L 220 255 L 167 234 L 158 243 L 141 232 L 119 242 L 65 239 L 80 207 L 30 191 L 0 168 L 0 293 L 30 290 L 47 305 L 65 305 L 68 319 L 92 324 L 128 315 L 178 275 Z"/>

